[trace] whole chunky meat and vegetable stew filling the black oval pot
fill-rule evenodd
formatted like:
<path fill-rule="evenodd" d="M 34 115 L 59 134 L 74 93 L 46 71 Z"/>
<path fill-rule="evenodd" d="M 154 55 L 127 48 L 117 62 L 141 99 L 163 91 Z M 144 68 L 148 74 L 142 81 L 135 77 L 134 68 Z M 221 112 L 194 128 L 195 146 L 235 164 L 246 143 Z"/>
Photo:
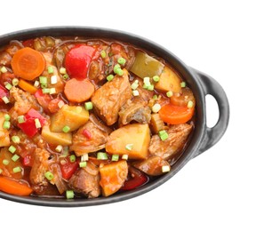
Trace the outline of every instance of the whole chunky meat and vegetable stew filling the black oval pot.
<path fill-rule="evenodd" d="M 141 187 L 184 152 L 196 100 L 156 55 L 36 37 L 0 48 L 0 191 L 95 198 Z"/>

